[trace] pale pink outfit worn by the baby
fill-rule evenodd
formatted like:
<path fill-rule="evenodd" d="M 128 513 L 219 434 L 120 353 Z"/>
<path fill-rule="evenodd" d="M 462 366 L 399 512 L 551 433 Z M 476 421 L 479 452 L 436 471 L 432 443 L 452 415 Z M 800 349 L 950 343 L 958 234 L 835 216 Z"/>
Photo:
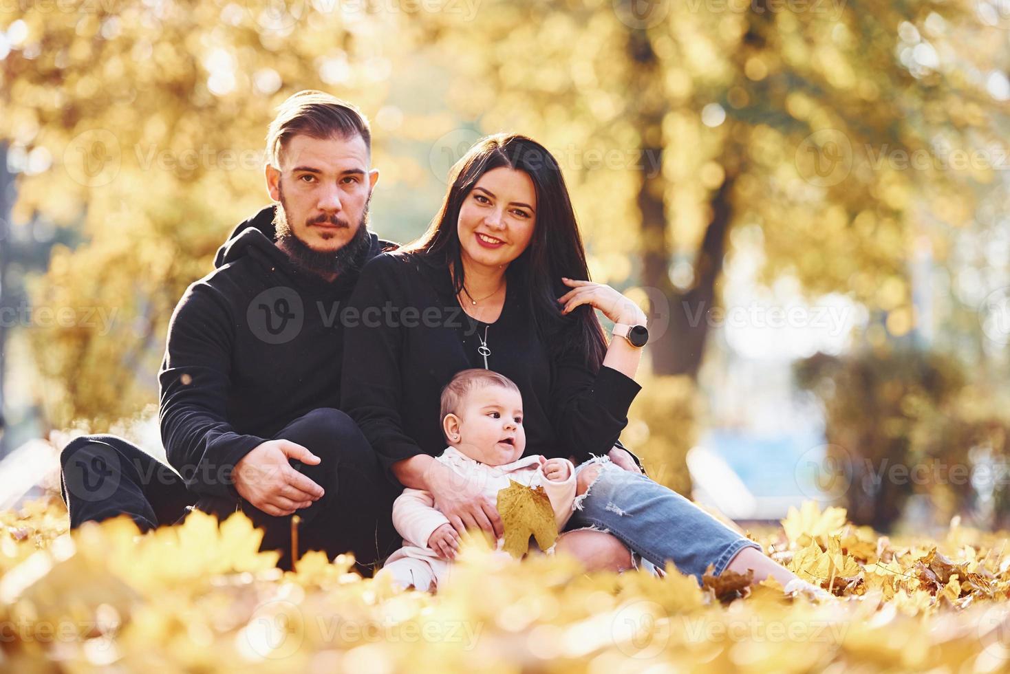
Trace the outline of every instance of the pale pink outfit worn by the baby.
<path fill-rule="evenodd" d="M 548 480 L 543 475 L 539 456 L 527 456 L 501 466 L 489 466 L 447 447 L 435 460 L 441 461 L 456 472 L 461 488 L 476 481 L 481 492 L 492 503 L 497 502 L 498 491 L 508 487 L 509 480 L 526 486 L 542 486 L 554 511 L 559 532 L 572 517 L 576 478 L 575 466 L 568 459 L 549 459 L 564 461 L 568 465 L 569 476 L 563 482 Z M 379 575 L 393 576 L 394 582 L 401 587 L 413 585 L 419 590 L 434 589 L 448 576 L 451 562 L 440 558 L 438 553 L 428 548 L 428 539 L 436 529 L 447 524 L 449 522 L 445 516 L 434 508 L 430 492 L 404 489 L 393 503 L 393 526 L 403 536 L 403 547 L 389 556 Z M 499 549 L 501 545 L 502 542 L 499 541 Z"/>

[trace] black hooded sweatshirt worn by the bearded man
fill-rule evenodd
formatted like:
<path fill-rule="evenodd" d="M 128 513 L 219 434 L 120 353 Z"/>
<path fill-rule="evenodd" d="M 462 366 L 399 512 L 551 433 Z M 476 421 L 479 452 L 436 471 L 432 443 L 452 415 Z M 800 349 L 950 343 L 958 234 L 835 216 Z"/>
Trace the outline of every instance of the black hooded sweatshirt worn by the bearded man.
<path fill-rule="evenodd" d="M 190 286 L 169 324 L 159 417 L 169 462 L 196 493 L 236 497 L 231 471 L 292 420 L 340 403 L 340 312 L 359 270 L 332 283 L 274 243 L 274 209 L 239 224 L 214 271 Z"/>

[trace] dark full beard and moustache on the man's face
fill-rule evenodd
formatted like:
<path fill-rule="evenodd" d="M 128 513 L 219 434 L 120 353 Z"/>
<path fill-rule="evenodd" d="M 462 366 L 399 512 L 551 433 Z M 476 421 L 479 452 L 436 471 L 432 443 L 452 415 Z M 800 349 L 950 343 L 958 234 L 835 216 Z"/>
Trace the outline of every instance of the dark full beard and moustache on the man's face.
<path fill-rule="evenodd" d="M 296 265 L 320 276 L 327 277 L 330 274 L 337 276 L 347 271 L 356 270 L 365 263 L 365 255 L 372 248 L 372 236 L 369 234 L 369 203 L 372 201 L 371 195 L 365 202 L 365 210 L 362 212 L 362 220 L 358 223 L 358 231 L 349 241 L 336 250 L 315 250 L 305 241 L 298 238 L 298 235 L 291 229 L 291 222 L 288 220 L 288 211 L 285 208 L 284 190 L 278 186 L 281 204 L 274 214 L 274 228 L 277 232 L 277 245 L 291 261 Z M 321 215 L 309 220 L 306 225 L 328 222 L 333 225 L 346 226 L 347 223 L 338 220 L 336 216 Z"/>

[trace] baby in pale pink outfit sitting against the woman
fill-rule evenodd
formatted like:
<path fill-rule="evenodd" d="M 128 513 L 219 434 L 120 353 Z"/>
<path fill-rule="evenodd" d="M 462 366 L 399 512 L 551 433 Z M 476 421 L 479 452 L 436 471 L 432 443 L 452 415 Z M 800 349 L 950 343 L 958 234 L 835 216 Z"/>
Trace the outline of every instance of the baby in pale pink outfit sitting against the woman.
<path fill-rule="evenodd" d="M 522 396 L 511 379 L 487 369 L 459 372 L 442 390 L 440 416 L 449 446 L 436 460 L 451 468 L 461 484 L 478 484 L 492 502 L 509 480 L 542 486 L 558 531 L 565 528 L 576 495 L 575 466 L 568 459 L 519 458 L 526 434 Z M 391 576 L 400 587 L 435 589 L 449 571 L 460 534 L 434 508 L 431 494 L 420 489 L 404 489 L 396 499 L 393 525 L 403 547 L 390 555 L 379 575 Z"/>

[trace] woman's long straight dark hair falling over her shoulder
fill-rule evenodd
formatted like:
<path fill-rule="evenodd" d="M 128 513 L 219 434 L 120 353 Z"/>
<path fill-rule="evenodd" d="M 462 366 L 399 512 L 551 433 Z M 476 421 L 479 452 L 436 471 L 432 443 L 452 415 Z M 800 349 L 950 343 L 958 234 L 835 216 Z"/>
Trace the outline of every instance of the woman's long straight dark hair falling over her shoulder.
<path fill-rule="evenodd" d="M 569 289 L 562 276 L 589 280 L 586 250 L 579 234 L 568 187 L 553 155 L 540 143 L 518 134 L 487 136 L 470 148 L 449 172 L 449 188 L 441 209 L 427 231 L 403 250 L 420 253 L 429 262 L 453 270 L 456 292 L 464 288 L 463 259 L 457 231 L 460 209 L 481 177 L 507 166 L 529 176 L 536 190 L 536 224 L 526 249 L 509 265 L 509 276 L 518 278 L 532 297 L 533 320 L 556 352 L 574 349 L 584 353 L 595 371 L 603 362 L 606 340 L 592 307 L 582 306 L 562 314 L 558 298 Z M 517 275 L 513 275 L 517 274 Z M 577 330 L 567 330 L 572 322 Z M 560 334 L 568 335 L 559 339 Z"/>

